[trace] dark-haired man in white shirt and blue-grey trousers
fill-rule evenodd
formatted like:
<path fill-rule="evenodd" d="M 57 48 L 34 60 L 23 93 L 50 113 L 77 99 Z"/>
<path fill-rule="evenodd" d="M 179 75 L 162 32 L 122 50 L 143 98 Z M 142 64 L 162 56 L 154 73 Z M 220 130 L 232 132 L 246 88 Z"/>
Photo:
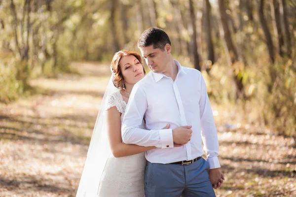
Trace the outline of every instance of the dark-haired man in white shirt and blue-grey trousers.
<path fill-rule="evenodd" d="M 145 196 L 215 197 L 213 188 L 221 187 L 224 177 L 201 73 L 173 59 L 169 36 L 159 28 L 144 31 L 138 47 L 153 72 L 133 87 L 122 139 L 124 143 L 156 147 L 145 154 Z M 143 118 L 147 130 L 140 128 Z M 160 129 L 168 123 L 170 129 Z M 207 161 L 202 158 L 203 149 Z"/>

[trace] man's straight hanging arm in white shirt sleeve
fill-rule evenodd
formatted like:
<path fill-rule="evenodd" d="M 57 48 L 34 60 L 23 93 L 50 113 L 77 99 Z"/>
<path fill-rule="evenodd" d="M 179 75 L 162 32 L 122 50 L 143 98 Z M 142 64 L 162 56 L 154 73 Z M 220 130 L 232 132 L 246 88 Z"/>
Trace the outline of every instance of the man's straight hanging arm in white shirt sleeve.
<path fill-rule="evenodd" d="M 204 150 L 206 151 L 207 161 L 210 164 L 210 169 L 213 169 L 220 167 L 220 163 L 218 160 L 218 135 L 207 93 L 206 84 L 200 72 L 199 74 L 199 82 L 201 84 L 201 98 L 199 100 L 199 108 L 202 141 L 204 143 Z"/>

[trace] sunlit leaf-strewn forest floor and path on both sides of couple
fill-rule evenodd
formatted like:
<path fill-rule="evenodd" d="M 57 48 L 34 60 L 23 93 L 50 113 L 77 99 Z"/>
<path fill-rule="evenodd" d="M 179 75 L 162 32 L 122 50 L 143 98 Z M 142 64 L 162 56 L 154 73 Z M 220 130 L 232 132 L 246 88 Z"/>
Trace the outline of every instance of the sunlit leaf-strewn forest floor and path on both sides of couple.
<path fill-rule="evenodd" d="M 110 67 L 30 81 L 36 93 L 0 104 L 0 197 L 74 197 Z M 217 197 L 296 196 L 292 138 L 236 123 L 243 111 L 212 103 L 225 182 Z"/>

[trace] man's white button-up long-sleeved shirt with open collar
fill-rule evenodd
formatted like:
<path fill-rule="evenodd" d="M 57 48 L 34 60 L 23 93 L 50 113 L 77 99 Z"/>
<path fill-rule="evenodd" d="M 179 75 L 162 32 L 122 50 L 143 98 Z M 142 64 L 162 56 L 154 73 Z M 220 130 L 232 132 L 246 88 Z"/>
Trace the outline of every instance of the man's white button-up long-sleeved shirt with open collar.
<path fill-rule="evenodd" d="M 124 143 L 156 146 L 145 153 L 151 163 L 169 164 L 192 160 L 206 151 L 210 169 L 220 167 L 218 136 L 206 84 L 201 73 L 181 66 L 175 81 L 149 72 L 134 85 L 122 122 Z M 147 130 L 141 129 L 145 118 Z M 163 130 L 167 124 L 170 129 Z M 192 125 L 191 140 L 174 147 L 172 129 Z"/>

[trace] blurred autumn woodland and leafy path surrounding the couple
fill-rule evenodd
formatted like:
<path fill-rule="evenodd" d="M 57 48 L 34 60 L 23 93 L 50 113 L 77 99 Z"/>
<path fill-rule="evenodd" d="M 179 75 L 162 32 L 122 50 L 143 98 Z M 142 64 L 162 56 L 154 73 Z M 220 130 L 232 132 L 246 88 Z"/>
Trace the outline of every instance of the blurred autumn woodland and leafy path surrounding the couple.
<path fill-rule="evenodd" d="M 0 196 L 75 196 L 112 56 L 149 27 L 206 80 L 217 196 L 296 196 L 295 0 L 0 0 Z"/>

